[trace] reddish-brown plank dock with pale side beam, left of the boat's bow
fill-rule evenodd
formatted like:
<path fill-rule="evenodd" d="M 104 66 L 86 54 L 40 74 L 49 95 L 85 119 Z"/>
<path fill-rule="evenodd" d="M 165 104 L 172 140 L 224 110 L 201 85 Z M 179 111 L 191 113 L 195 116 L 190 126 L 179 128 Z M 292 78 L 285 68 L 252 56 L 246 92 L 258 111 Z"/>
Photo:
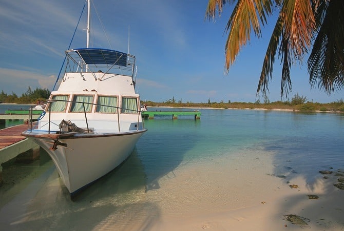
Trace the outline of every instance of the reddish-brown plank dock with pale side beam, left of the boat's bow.
<path fill-rule="evenodd" d="M 16 125 L 0 130 L 0 184 L 2 182 L 2 163 L 15 158 L 21 153 L 33 150 L 25 159 L 35 159 L 39 156 L 40 146 L 21 135 L 28 129 L 28 124 Z"/>

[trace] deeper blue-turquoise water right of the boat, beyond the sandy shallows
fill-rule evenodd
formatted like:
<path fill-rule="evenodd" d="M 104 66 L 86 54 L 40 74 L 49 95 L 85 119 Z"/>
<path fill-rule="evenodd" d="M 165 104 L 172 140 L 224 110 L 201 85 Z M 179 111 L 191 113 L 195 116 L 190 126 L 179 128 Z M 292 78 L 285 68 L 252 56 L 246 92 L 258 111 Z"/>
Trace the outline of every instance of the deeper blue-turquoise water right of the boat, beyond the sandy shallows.
<path fill-rule="evenodd" d="M 344 114 L 200 111 L 200 120 L 165 117 L 145 121 L 149 132 L 137 149 L 148 176 L 246 150 L 276 153 L 276 175 L 290 170 L 313 180 L 314 169 L 344 167 Z"/>

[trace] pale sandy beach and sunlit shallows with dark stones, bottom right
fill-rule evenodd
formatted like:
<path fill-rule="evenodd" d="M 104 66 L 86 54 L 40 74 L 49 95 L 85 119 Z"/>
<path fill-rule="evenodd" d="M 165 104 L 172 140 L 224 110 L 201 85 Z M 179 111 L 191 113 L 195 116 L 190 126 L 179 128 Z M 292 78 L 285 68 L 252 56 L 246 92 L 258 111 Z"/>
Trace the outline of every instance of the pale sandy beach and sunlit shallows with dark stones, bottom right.
<path fill-rule="evenodd" d="M 168 185 L 161 185 L 161 190 L 173 198 L 171 201 L 182 203 L 163 202 L 161 219 L 148 230 L 344 229 L 344 190 L 334 186 L 339 175 L 344 176 L 343 170 L 331 170 L 332 174 L 314 170 L 317 180 L 310 184 L 298 174 L 273 174 L 269 155 L 255 157 L 243 153 L 231 160 L 233 166 L 214 161 L 218 161 L 219 172 L 214 173 L 212 166 L 207 169 L 206 164 L 201 163 L 193 174 L 177 170 L 178 177 L 168 179 Z M 207 181 L 209 174 L 218 174 L 218 181 Z M 204 179 L 203 183 L 194 185 L 200 178 Z M 171 183 L 172 180 L 175 182 Z M 219 185 L 218 190 L 207 191 L 209 184 Z M 194 193 L 191 196 L 179 194 L 176 188 L 178 192 Z M 309 199 L 308 195 L 319 198 Z"/>

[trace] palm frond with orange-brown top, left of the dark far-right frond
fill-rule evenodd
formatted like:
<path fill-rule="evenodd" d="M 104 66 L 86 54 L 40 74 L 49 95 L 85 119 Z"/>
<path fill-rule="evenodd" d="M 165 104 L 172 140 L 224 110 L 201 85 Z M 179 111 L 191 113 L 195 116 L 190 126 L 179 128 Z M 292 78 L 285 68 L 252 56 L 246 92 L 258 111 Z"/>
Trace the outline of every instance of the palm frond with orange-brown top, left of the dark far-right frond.
<path fill-rule="evenodd" d="M 282 63 L 281 96 L 288 95 L 292 89 L 290 68 L 295 60 L 302 62 L 304 54 L 308 52 L 311 46 L 314 28 L 315 19 L 311 1 L 283 1 L 265 54 L 257 95 L 259 92 L 266 95 L 266 91 L 269 91 L 267 86 L 269 79 L 272 79 L 278 43 L 280 43 L 278 57 L 281 58 Z"/>

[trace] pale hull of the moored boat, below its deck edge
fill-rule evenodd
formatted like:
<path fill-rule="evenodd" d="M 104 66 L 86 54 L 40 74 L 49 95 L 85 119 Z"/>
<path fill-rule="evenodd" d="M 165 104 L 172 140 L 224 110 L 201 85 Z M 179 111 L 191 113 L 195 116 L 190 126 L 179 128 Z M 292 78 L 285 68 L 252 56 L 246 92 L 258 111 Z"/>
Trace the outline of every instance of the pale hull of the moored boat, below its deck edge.
<path fill-rule="evenodd" d="M 27 138 L 47 151 L 73 195 L 120 165 L 145 131 L 61 137 L 56 149 L 52 148 L 55 139 L 35 135 Z"/>

